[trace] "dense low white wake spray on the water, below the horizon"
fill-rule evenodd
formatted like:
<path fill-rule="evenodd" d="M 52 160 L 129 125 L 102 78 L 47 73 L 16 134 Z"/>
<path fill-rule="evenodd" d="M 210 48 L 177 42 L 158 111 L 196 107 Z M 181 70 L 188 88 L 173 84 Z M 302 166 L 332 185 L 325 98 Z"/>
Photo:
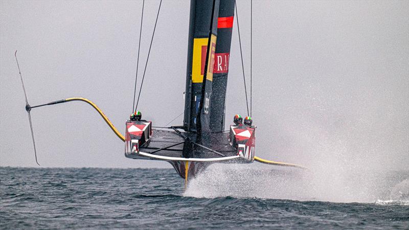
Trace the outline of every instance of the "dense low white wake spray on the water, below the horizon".
<path fill-rule="evenodd" d="M 257 197 L 302 201 L 409 203 L 409 173 L 344 172 L 214 164 L 189 183 L 184 196 Z"/>

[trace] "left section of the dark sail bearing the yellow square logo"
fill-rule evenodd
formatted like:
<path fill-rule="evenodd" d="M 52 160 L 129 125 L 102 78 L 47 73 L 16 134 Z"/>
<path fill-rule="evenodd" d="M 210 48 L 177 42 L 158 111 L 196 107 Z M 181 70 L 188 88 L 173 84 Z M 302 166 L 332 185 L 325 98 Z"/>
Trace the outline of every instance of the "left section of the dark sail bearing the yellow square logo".
<path fill-rule="evenodd" d="M 208 66 L 208 70 L 210 71 L 205 71 L 205 65 L 206 62 L 214 63 L 214 53 L 217 38 L 218 9 L 219 0 L 191 0 L 190 3 L 184 117 L 184 127 L 186 131 L 197 131 L 198 114 L 203 115 L 200 116 L 201 130 L 210 130 L 209 104 L 213 81 L 213 68 L 210 68 L 210 66 L 213 66 L 213 64 L 210 64 Z M 211 21 L 213 21 L 213 25 L 211 25 Z M 212 31 L 210 31 L 211 28 Z M 211 36 L 209 36 L 210 34 Z M 211 37 L 210 43 L 211 46 L 213 46 L 213 52 L 210 52 L 209 57 L 207 57 L 209 37 Z M 205 79 L 205 83 L 203 83 L 203 77 L 205 75 L 207 75 L 207 79 Z M 205 86 L 204 94 L 202 92 L 203 86 Z M 206 97 L 208 97 L 208 100 L 206 100 Z M 207 103 L 205 106 L 200 106 L 200 102 L 202 100 L 203 103 Z M 200 111 L 200 108 L 202 111 Z"/>

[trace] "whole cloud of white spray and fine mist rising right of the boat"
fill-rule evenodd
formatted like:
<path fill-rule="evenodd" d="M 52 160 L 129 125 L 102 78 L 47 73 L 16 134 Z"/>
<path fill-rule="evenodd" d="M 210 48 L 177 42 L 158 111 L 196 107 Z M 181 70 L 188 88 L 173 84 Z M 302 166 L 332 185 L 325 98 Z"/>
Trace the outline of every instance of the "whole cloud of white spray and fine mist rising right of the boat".
<path fill-rule="evenodd" d="M 306 97 L 302 112 L 276 113 L 275 123 L 260 120 L 257 154 L 309 171 L 215 164 L 191 180 L 185 195 L 409 204 L 405 115 L 373 113 L 368 105 L 343 110 L 324 97 Z"/>

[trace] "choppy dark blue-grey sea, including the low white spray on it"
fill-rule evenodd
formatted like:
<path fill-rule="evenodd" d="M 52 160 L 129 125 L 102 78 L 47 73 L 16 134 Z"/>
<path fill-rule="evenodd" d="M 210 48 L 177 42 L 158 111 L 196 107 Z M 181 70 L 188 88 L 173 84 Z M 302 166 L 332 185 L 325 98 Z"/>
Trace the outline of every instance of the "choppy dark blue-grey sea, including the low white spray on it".
<path fill-rule="evenodd" d="M 215 165 L 185 190 L 173 169 L 1 167 L 0 229 L 409 228 L 407 171 L 312 177 Z"/>

